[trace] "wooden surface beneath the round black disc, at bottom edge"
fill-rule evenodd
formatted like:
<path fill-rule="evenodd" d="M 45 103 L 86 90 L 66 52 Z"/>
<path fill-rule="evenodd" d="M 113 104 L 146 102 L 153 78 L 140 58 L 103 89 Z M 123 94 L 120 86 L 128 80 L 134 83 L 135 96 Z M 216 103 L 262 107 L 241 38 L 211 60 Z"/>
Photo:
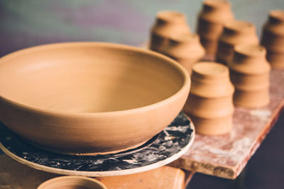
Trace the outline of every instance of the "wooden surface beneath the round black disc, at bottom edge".
<path fill-rule="evenodd" d="M 192 174 L 187 173 L 187 178 L 191 178 Z M 5 154 L 0 155 L 0 188 L 33 189 L 37 188 L 40 183 L 58 176 L 60 175 L 29 168 Z M 96 179 L 102 181 L 108 189 L 182 189 L 185 183 L 185 173 L 179 168 L 163 166 L 128 176 L 110 176 Z"/>

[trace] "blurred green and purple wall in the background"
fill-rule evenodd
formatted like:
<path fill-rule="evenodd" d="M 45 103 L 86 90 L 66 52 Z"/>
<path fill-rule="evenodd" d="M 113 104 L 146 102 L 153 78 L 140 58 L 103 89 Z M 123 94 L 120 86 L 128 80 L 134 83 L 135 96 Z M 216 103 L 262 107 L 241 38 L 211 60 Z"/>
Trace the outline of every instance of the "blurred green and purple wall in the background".
<path fill-rule="evenodd" d="M 256 25 L 284 0 L 231 0 L 236 19 Z M 182 11 L 195 30 L 202 0 L 0 0 L 0 57 L 50 42 L 104 41 L 141 45 L 155 14 Z"/>

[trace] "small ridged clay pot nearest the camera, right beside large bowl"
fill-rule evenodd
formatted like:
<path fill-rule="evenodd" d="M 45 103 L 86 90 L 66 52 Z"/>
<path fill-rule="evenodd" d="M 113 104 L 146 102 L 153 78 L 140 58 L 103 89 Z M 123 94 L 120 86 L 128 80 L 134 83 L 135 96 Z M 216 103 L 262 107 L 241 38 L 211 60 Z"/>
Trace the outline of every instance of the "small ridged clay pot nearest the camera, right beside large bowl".
<path fill-rule="evenodd" d="M 192 88 L 184 110 L 200 134 L 224 134 L 232 127 L 234 86 L 229 69 L 215 62 L 192 67 Z"/>

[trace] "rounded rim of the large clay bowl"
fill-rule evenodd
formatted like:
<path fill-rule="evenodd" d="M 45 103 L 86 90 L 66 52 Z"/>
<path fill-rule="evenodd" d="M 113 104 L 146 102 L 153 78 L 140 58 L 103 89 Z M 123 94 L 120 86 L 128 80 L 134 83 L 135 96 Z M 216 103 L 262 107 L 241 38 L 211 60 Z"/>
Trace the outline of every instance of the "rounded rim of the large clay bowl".
<path fill-rule="evenodd" d="M 95 112 L 95 113 L 65 113 L 64 111 L 56 111 L 56 110 L 48 110 L 43 108 L 35 108 L 30 105 L 25 105 L 23 103 L 18 103 L 16 101 L 12 101 L 7 97 L 4 97 L 1 95 L 1 89 L 0 89 L 0 101 L 4 101 L 6 103 L 9 103 L 13 107 L 21 108 L 23 110 L 28 110 L 33 113 L 43 113 L 45 115 L 62 115 L 65 117 L 94 117 L 94 116 L 109 116 L 109 115 L 121 115 L 121 114 L 128 114 L 128 113 L 141 113 L 147 110 L 153 110 L 155 108 L 161 107 L 163 105 L 166 105 L 170 102 L 175 101 L 176 98 L 179 98 L 179 96 L 182 95 L 185 91 L 189 90 L 190 88 L 190 76 L 187 73 L 186 69 L 183 68 L 178 62 L 176 62 L 174 59 L 171 59 L 170 57 L 166 57 L 165 55 L 162 55 L 158 52 L 154 52 L 152 50 L 143 49 L 142 47 L 134 47 L 130 45 L 121 45 L 111 42 L 56 42 L 56 43 L 50 43 L 46 45 L 37 45 L 33 47 L 27 47 L 22 50 L 17 50 L 15 52 L 11 52 L 8 55 L 4 55 L 3 57 L 0 57 L 0 64 L 3 62 L 6 62 L 7 60 L 25 55 L 27 53 L 33 52 L 33 51 L 40 51 L 40 50 L 48 50 L 48 49 L 54 49 L 55 47 L 80 47 L 80 46 L 101 46 L 101 47 L 114 47 L 116 49 L 120 50 L 129 50 L 132 52 L 138 52 L 138 53 L 144 53 L 147 55 L 151 55 L 153 57 L 159 57 L 160 59 L 164 59 L 165 62 L 168 62 L 168 64 L 171 64 L 173 67 L 175 67 L 176 70 L 178 70 L 183 78 L 183 84 L 180 87 L 180 89 L 175 92 L 172 96 L 165 98 L 163 101 L 158 101 L 157 103 L 152 103 L 150 105 L 145 105 L 139 108 L 131 108 L 127 110 L 117 110 L 117 111 L 109 111 L 109 112 Z M 188 88 L 188 89 L 187 89 Z"/>

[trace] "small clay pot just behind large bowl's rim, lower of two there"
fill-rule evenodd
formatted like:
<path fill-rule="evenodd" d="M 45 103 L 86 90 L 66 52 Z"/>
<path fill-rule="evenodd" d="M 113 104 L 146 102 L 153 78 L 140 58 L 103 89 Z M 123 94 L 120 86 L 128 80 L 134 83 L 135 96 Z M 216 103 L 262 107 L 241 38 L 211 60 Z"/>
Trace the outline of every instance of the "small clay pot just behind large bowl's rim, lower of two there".
<path fill-rule="evenodd" d="M 204 57 L 205 50 L 197 34 L 187 33 L 170 38 L 168 45 L 165 45 L 160 53 L 175 59 L 191 73 L 192 64 Z"/>

